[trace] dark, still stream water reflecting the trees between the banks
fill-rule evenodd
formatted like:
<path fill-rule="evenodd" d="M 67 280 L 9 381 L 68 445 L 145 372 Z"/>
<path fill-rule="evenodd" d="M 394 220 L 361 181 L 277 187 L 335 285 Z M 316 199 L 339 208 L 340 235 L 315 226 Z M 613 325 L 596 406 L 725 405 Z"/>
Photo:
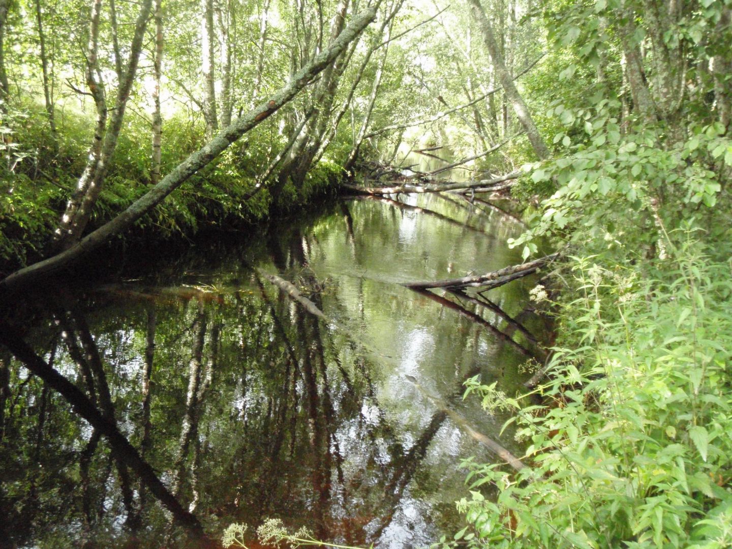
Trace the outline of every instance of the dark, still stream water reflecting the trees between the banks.
<path fill-rule="evenodd" d="M 461 527 L 460 460 L 496 460 L 471 429 L 520 454 L 498 434 L 505 418 L 462 393 L 472 376 L 514 391 L 529 343 L 494 311 L 400 283 L 519 263 L 505 242 L 522 228 L 458 198 L 342 201 L 24 305 L 22 337 L 113 416 L 210 537 L 282 518 L 334 542 L 421 547 Z M 540 337 L 533 283 L 488 296 Z M 0 362 L 0 547 L 191 545 L 64 397 L 1 346 Z"/>

